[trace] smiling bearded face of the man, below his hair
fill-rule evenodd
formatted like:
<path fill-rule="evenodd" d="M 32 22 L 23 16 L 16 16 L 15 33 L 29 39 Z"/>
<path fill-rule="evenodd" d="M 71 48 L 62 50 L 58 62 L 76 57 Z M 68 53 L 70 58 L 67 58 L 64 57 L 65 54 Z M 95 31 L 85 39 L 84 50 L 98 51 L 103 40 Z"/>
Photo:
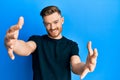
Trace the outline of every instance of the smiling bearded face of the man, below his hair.
<path fill-rule="evenodd" d="M 46 27 L 48 36 L 54 39 L 60 39 L 62 37 L 62 24 L 64 18 L 57 12 L 43 17 L 44 25 Z"/>

